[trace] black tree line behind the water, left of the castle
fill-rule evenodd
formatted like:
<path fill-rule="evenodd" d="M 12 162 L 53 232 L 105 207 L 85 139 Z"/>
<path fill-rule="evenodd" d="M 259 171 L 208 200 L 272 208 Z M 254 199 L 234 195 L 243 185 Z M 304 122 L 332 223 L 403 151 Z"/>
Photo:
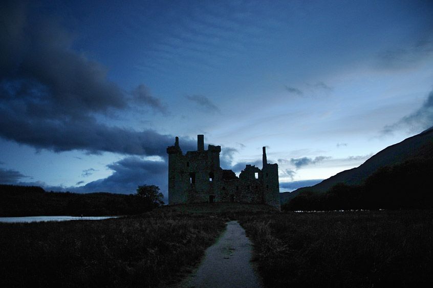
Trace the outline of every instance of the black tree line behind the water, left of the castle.
<path fill-rule="evenodd" d="M 0 216 L 101 216 L 132 215 L 162 205 L 163 195 L 154 185 L 137 188 L 136 194 L 46 192 L 36 186 L 0 184 Z"/>

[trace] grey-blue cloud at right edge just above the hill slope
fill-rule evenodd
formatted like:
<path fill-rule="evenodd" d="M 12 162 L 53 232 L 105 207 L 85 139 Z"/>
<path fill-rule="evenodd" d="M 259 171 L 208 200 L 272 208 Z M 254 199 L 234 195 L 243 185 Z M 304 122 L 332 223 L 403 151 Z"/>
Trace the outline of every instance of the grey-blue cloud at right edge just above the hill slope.
<path fill-rule="evenodd" d="M 421 108 L 415 112 L 404 116 L 392 125 L 387 125 L 382 129 L 383 134 L 392 133 L 395 130 L 409 129 L 413 132 L 420 132 L 433 126 L 433 91 L 427 96 Z"/>

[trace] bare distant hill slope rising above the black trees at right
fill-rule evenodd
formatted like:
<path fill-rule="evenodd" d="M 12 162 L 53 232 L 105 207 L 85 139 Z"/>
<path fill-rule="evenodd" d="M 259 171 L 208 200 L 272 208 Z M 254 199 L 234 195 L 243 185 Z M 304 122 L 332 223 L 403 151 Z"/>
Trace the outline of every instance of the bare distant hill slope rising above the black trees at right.
<path fill-rule="evenodd" d="M 324 193 L 337 183 L 359 185 L 381 167 L 417 159 L 433 159 L 433 127 L 381 150 L 357 168 L 342 171 L 314 186 L 299 188 L 290 198 L 302 191 Z"/>

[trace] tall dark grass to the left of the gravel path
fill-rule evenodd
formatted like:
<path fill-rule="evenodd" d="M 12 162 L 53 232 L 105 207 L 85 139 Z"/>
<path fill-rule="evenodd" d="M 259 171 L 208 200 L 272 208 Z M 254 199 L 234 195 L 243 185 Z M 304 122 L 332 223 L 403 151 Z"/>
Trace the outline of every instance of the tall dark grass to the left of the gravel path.
<path fill-rule="evenodd" d="M 0 223 L 2 286 L 145 286 L 173 280 L 224 229 L 167 211 L 99 221 Z"/>

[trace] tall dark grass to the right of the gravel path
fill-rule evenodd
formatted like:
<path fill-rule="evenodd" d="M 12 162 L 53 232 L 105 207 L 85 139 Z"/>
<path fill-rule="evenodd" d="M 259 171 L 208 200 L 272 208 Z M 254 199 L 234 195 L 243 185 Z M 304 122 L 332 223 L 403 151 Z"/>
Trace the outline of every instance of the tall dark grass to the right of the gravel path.
<path fill-rule="evenodd" d="M 268 287 L 433 282 L 433 212 L 245 216 Z"/>

